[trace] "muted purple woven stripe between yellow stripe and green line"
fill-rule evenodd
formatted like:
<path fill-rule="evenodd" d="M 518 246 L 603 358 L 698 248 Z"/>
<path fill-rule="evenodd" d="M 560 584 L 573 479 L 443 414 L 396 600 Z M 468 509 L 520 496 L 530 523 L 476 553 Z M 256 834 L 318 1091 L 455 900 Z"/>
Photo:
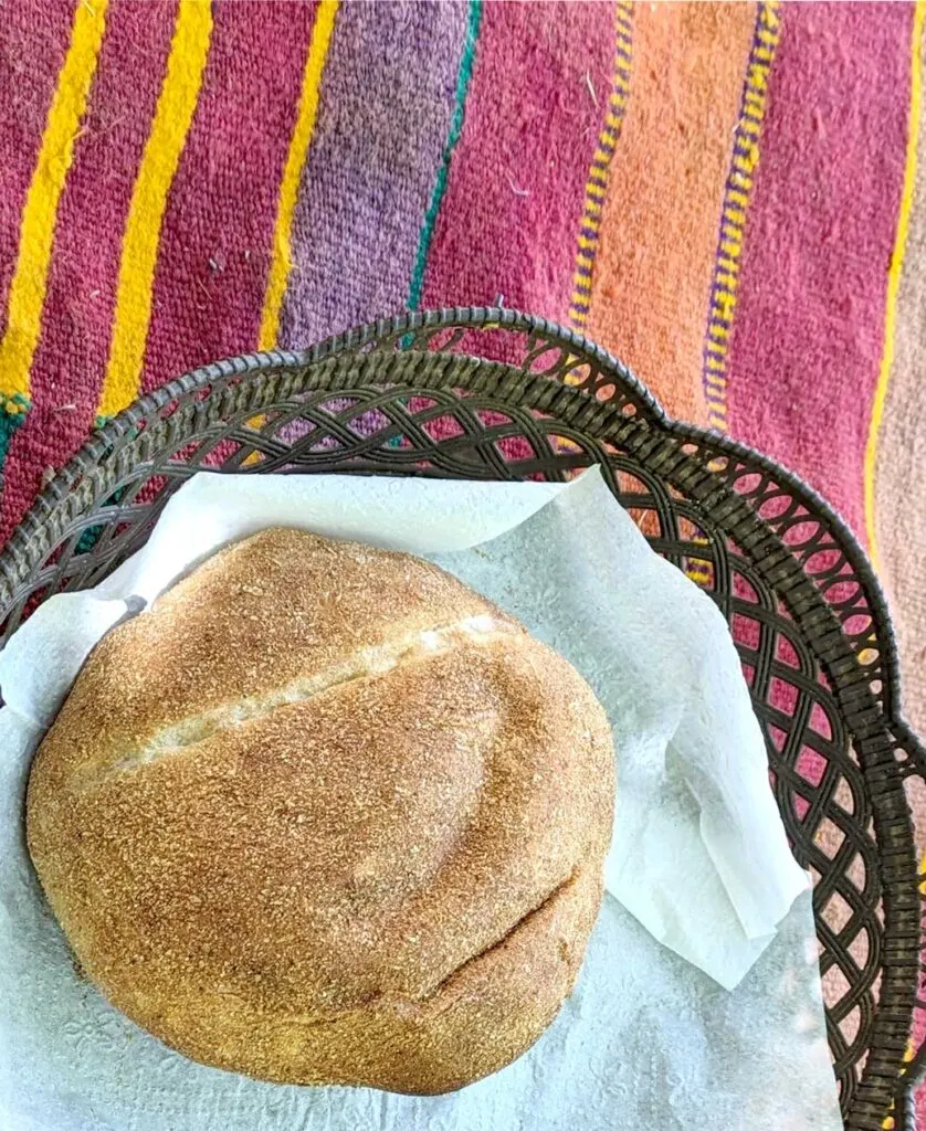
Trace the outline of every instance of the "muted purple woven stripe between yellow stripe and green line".
<path fill-rule="evenodd" d="M 293 217 L 282 346 L 405 305 L 465 29 L 465 3 L 342 5 Z"/>

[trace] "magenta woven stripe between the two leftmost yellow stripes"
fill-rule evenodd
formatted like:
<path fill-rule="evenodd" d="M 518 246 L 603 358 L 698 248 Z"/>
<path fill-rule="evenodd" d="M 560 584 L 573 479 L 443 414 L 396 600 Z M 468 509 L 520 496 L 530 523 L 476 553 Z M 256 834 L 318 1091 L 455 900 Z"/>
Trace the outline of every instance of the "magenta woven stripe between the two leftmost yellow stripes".
<path fill-rule="evenodd" d="M 0 541 L 46 467 L 93 425 L 110 343 L 122 232 L 170 49 L 175 3 L 114 5 L 84 132 L 58 209 L 29 414 L 7 457 Z"/>

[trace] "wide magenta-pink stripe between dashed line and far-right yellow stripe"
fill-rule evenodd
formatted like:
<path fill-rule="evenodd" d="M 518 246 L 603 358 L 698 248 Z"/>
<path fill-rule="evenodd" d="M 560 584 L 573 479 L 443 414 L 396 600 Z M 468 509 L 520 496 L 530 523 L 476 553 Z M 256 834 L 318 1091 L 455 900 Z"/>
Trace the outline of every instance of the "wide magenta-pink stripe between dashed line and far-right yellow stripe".
<path fill-rule="evenodd" d="M 863 465 L 903 181 L 909 5 L 790 5 L 769 90 L 729 424 L 864 537 Z"/>

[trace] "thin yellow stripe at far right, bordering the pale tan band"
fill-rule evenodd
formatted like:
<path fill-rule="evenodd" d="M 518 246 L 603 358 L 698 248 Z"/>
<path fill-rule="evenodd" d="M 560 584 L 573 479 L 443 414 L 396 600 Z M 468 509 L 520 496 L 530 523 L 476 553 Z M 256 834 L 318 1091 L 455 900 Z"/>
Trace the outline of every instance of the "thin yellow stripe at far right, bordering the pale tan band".
<path fill-rule="evenodd" d="M 877 439 L 881 422 L 884 417 L 884 403 L 888 399 L 888 385 L 891 380 L 891 366 L 894 362 L 894 329 L 897 326 L 897 299 L 900 292 L 900 277 L 903 270 L 903 252 L 910 231 L 910 210 L 914 205 L 916 188 L 916 147 L 919 139 L 919 114 L 923 102 L 923 27 L 926 19 L 926 5 L 917 0 L 914 11 L 914 32 L 910 48 L 910 120 L 907 128 L 907 163 L 903 170 L 903 192 L 900 198 L 900 213 L 897 219 L 897 235 L 891 266 L 888 271 L 888 297 L 884 309 L 884 349 L 881 355 L 881 370 L 877 375 L 874 402 L 872 404 L 872 421 L 868 426 L 868 441 L 865 444 L 865 527 L 868 532 L 868 552 L 877 569 L 877 532 L 875 529 L 875 473 L 877 470 Z"/>

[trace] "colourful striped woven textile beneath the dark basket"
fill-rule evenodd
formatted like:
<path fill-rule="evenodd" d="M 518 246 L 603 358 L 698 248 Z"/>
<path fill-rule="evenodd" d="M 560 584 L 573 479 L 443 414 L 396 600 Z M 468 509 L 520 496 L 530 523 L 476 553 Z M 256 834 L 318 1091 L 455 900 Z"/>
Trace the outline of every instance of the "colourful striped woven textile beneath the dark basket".
<path fill-rule="evenodd" d="M 183 370 L 501 302 L 837 507 L 926 731 L 920 5 L 0 12 L 0 542 Z"/>

